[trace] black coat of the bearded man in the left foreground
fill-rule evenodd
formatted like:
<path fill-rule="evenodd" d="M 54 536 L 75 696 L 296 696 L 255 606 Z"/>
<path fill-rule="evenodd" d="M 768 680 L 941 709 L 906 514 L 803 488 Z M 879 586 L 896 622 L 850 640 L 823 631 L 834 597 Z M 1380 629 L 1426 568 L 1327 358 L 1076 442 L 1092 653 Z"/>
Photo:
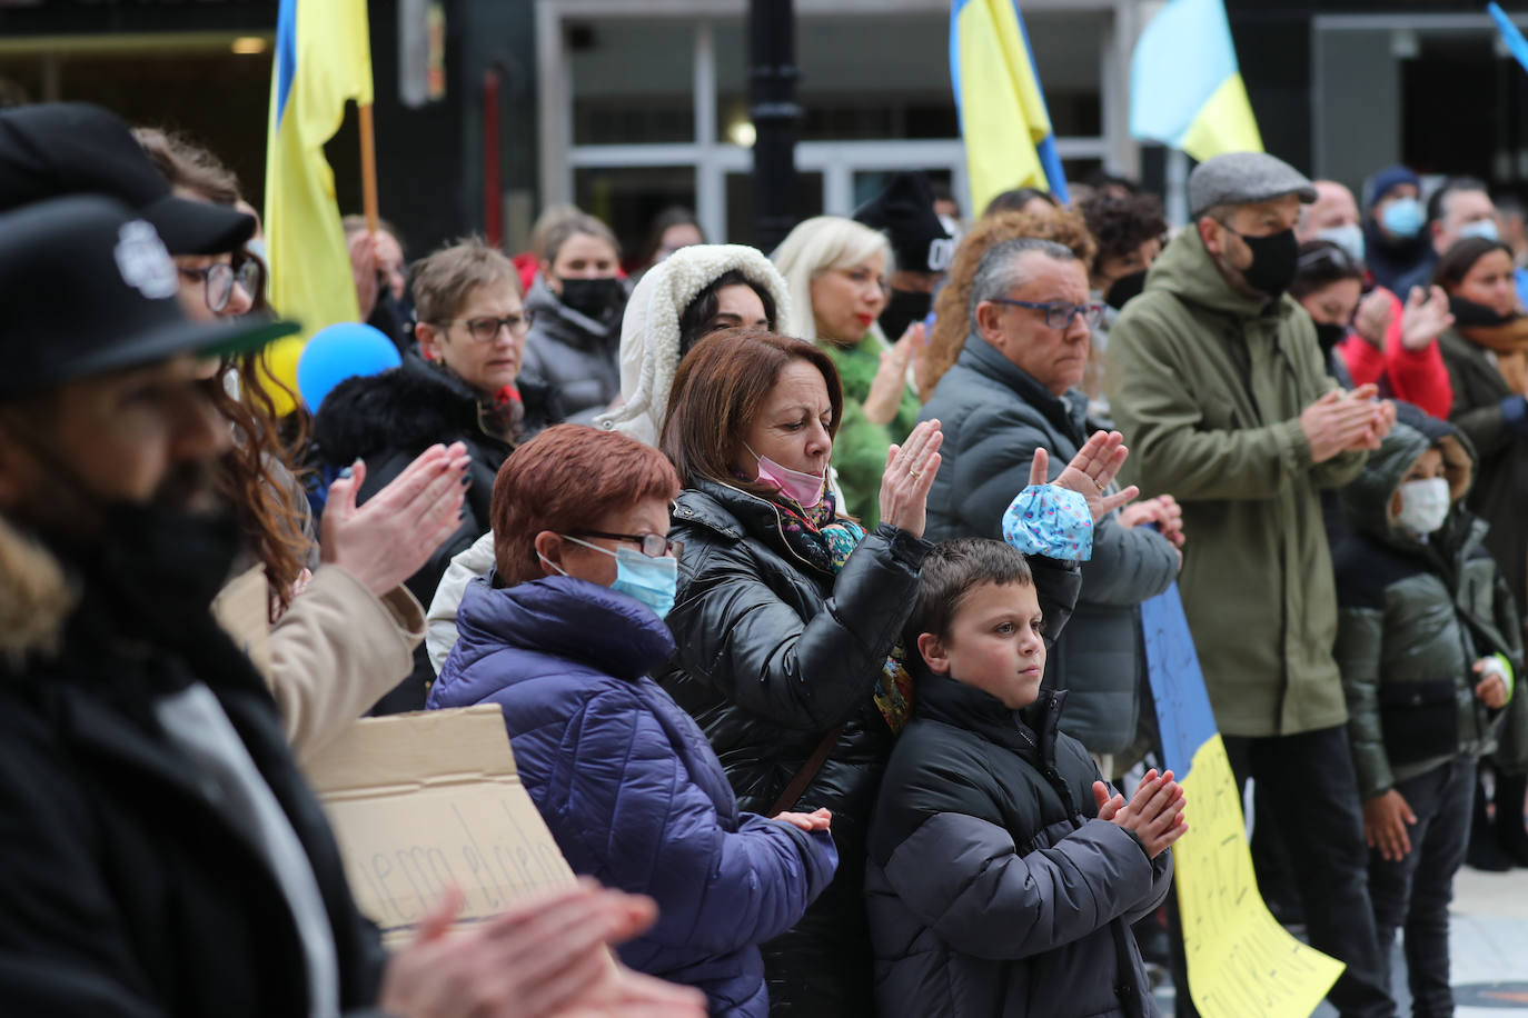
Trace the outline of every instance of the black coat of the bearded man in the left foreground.
<path fill-rule="evenodd" d="M 150 585 L 86 591 L 61 656 L 0 667 L 0 1012 L 307 1018 L 304 952 L 269 864 L 154 716 L 200 681 L 313 867 L 341 1009 L 371 1013 L 376 928 L 249 659 L 205 603 L 150 627 Z"/>

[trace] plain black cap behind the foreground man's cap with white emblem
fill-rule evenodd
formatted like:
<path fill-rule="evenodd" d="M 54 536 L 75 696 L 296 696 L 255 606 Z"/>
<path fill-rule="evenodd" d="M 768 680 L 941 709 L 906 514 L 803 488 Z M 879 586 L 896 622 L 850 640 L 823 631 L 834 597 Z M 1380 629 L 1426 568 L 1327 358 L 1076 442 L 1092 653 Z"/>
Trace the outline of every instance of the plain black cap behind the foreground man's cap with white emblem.
<path fill-rule="evenodd" d="M 119 116 L 89 102 L 0 111 L 0 212 L 66 194 L 104 194 L 136 211 L 171 255 L 222 255 L 255 234 L 255 220 L 182 198 Z"/>

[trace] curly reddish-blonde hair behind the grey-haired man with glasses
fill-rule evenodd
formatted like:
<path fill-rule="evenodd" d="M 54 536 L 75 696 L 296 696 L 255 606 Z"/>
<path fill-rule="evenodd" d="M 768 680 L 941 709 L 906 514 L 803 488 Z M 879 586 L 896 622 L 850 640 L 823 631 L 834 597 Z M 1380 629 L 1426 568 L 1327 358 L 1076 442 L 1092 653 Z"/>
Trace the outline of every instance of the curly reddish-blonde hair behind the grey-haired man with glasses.
<path fill-rule="evenodd" d="M 970 287 L 976 278 L 981 256 L 998 244 L 1021 237 L 1048 240 L 1070 247 L 1085 264 L 1093 263 L 1096 246 L 1082 215 L 1070 209 L 1051 212 L 996 212 L 981 218 L 961 238 L 944 288 L 934 301 L 934 328 L 929 333 L 929 350 L 914 365 L 918 392 L 924 403 L 934 397 L 934 388 L 944 372 L 955 366 L 955 359 L 966 348 L 970 336 Z"/>

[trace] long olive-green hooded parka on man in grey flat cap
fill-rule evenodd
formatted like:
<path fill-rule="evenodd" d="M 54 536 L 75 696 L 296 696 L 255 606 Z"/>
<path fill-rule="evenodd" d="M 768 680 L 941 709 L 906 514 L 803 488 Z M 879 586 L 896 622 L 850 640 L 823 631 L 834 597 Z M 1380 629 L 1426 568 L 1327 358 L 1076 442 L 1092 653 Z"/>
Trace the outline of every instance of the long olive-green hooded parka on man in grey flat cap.
<path fill-rule="evenodd" d="M 1363 453 L 1313 464 L 1299 420 L 1335 385 L 1305 310 L 1232 290 L 1195 229 L 1167 244 L 1109 333 L 1126 479 L 1183 504 L 1178 585 L 1230 736 L 1348 720 L 1317 490 L 1357 476 Z"/>

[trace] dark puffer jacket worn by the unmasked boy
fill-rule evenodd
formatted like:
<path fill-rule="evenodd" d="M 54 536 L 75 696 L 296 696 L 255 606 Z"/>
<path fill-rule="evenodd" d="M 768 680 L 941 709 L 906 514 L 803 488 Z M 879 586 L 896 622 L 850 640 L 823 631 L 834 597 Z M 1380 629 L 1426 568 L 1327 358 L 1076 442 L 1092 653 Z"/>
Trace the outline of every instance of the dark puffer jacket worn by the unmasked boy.
<path fill-rule="evenodd" d="M 869 832 L 882 1015 L 1157 1013 L 1128 923 L 1166 897 L 1172 853 L 1097 820 L 1063 697 L 1012 711 L 920 679 Z"/>

